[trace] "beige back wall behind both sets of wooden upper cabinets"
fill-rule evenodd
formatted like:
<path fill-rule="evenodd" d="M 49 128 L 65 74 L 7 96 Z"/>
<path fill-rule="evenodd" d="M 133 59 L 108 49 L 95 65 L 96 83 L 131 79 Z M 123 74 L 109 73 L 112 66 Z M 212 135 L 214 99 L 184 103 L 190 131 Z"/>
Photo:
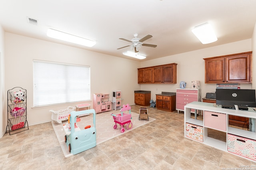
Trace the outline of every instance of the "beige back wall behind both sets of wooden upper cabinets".
<path fill-rule="evenodd" d="M 252 51 L 251 39 L 243 40 L 215 47 L 190 51 L 187 53 L 180 53 L 162 57 L 159 59 L 152 59 L 149 61 L 142 61 L 140 67 L 148 67 L 153 65 L 162 65 L 167 63 L 177 63 L 177 83 L 176 84 L 142 84 L 141 90 L 150 90 L 151 98 L 156 100 L 156 94 L 166 92 L 176 92 L 176 88 L 180 88 L 180 81 L 185 81 L 186 88 L 191 88 L 191 82 L 194 80 L 200 81 L 202 97 L 206 96 L 207 92 L 214 92 L 216 84 L 204 83 L 204 59 L 208 57 L 215 57 L 220 55 L 228 55 L 234 53 L 241 53 Z M 255 75 L 255 74 L 254 74 Z M 255 77 L 255 76 L 254 76 Z M 252 84 L 241 84 L 242 89 L 251 89 Z"/>

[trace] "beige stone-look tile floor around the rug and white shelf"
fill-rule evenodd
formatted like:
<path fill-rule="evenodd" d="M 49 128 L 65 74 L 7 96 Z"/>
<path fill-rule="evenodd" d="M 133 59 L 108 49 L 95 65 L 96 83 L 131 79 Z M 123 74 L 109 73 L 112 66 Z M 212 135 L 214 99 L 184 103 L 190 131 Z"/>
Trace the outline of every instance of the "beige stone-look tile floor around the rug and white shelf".
<path fill-rule="evenodd" d="M 139 113 L 139 109 L 132 106 L 132 112 Z M 223 170 L 256 166 L 250 160 L 184 138 L 183 112 L 148 107 L 148 114 L 156 120 L 69 158 L 64 157 L 50 122 L 17 134 L 6 133 L 0 138 L 0 169 Z"/>

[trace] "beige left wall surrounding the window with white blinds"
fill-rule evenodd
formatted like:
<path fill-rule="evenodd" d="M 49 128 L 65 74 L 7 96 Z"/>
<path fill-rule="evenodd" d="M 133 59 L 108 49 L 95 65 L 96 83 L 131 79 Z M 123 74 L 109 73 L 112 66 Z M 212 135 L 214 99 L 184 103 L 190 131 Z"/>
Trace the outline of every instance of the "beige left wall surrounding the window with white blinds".
<path fill-rule="evenodd" d="M 140 62 L 7 32 L 5 36 L 5 91 L 7 93 L 8 89 L 13 87 L 27 90 L 28 125 L 50 121 L 50 109 L 57 111 L 77 104 L 33 108 L 33 59 L 89 65 L 91 96 L 93 93 L 121 90 L 122 104 L 134 104 L 134 89 L 140 89 L 137 83 L 137 68 Z M 92 101 L 86 103 L 90 103 L 92 109 Z M 6 127 L 6 120 L 3 120 L 3 123 Z"/>

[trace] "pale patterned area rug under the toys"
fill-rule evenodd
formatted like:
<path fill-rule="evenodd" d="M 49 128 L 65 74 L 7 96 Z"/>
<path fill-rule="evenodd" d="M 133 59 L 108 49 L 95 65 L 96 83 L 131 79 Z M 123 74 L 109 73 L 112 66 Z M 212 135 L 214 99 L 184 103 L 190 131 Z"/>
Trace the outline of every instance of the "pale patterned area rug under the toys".
<path fill-rule="evenodd" d="M 120 125 L 118 125 L 116 129 L 114 129 L 115 123 L 114 123 L 113 117 L 111 116 L 111 113 L 117 115 L 120 112 L 113 110 L 113 111 L 96 114 L 96 144 L 106 142 L 107 140 L 115 138 L 116 136 L 129 132 L 130 130 L 141 127 L 143 125 L 146 125 L 147 123 L 150 123 L 156 120 L 150 117 L 149 117 L 149 120 L 148 119 L 139 120 L 139 114 L 131 112 L 132 129 L 127 130 L 126 125 L 124 125 L 124 132 L 122 133 Z M 93 114 L 82 116 L 80 117 L 80 119 L 81 121 L 76 123 L 78 127 L 83 128 L 87 125 L 93 126 Z M 73 154 L 70 154 L 70 152 L 68 151 L 68 147 L 66 146 L 66 143 L 64 140 L 65 132 L 63 130 L 63 125 L 66 125 L 67 123 L 68 121 L 62 121 L 62 124 L 58 124 L 55 121 L 52 121 L 52 127 L 54 129 L 54 132 L 56 133 L 58 141 L 60 142 L 61 149 L 66 158 L 73 155 Z"/>

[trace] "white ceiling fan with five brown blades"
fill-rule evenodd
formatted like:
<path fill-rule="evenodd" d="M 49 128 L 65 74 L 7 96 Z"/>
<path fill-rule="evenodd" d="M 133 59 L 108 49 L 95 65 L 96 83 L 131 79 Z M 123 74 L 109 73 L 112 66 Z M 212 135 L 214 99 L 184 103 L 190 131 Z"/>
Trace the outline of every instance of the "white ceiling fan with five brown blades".
<path fill-rule="evenodd" d="M 118 49 L 130 46 L 131 48 L 134 48 L 135 53 L 138 53 L 141 46 L 156 47 L 157 45 L 143 43 L 145 40 L 148 40 L 149 38 L 152 38 L 152 37 L 153 36 L 151 36 L 151 35 L 147 35 L 147 36 L 143 37 L 142 39 L 140 39 L 140 38 L 138 38 L 138 34 L 134 34 L 134 38 L 132 40 L 126 40 L 124 38 L 119 38 L 120 40 L 124 40 L 124 41 L 130 42 L 132 44 L 126 45 L 124 47 L 120 47 Z"/>

